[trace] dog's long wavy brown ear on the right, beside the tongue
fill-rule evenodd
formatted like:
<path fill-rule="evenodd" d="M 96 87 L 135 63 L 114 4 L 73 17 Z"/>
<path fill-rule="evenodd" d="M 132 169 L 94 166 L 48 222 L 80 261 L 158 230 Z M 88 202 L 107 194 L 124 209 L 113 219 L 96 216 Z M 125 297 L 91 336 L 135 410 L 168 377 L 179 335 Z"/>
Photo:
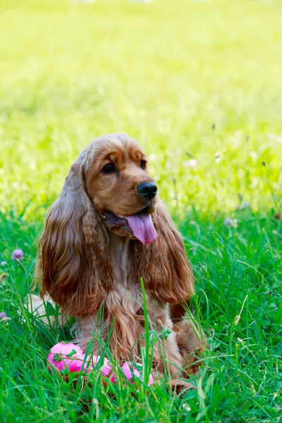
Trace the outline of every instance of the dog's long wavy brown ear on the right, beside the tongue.
<path fill-rule="evenodd" d="M 147 290 L 161 302 L 189 301 L 194 293 L 192 269 L 180 233 L 160 201 L 153 221 L 158 235 L 154 243 L 133 244 L 135 278 L 144 278 Z"/>

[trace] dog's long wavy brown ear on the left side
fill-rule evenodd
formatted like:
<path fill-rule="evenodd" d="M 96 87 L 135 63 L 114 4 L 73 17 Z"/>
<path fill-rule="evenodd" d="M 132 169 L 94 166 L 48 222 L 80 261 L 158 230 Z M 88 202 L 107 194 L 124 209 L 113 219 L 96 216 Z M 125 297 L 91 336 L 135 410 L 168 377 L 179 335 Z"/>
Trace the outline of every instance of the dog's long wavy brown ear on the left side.
<path fill-rule="evenodd" d="M 97 310 L 112 281 L 108 235 L 87 193 L 85 156 L 71 166 L 38 248 L 40 295 L 49 293 L 71 316 Z"/>

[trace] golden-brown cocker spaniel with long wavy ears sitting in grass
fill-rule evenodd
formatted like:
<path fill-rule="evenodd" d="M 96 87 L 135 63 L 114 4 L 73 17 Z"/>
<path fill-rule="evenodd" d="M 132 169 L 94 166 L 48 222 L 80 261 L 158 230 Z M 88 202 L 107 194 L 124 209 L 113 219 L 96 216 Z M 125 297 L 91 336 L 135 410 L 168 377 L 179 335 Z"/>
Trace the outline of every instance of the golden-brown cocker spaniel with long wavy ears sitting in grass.
<path fill-rule="evenodd" d="M 145 345 L 142 278 L 150 329 L 166 331 L 154 343 L 155 374 L 185 386 L 197 372 L 204 336 L 183 307 L 192 270 L 133 138 L 99 137 L 71 166 L 39 241 L 37 276 L 41 296 L 76 317 L 75 342 L 86 350 L 92 340 L 97 354 L 102 338 L 117 360 L 140 360 Z"/>

